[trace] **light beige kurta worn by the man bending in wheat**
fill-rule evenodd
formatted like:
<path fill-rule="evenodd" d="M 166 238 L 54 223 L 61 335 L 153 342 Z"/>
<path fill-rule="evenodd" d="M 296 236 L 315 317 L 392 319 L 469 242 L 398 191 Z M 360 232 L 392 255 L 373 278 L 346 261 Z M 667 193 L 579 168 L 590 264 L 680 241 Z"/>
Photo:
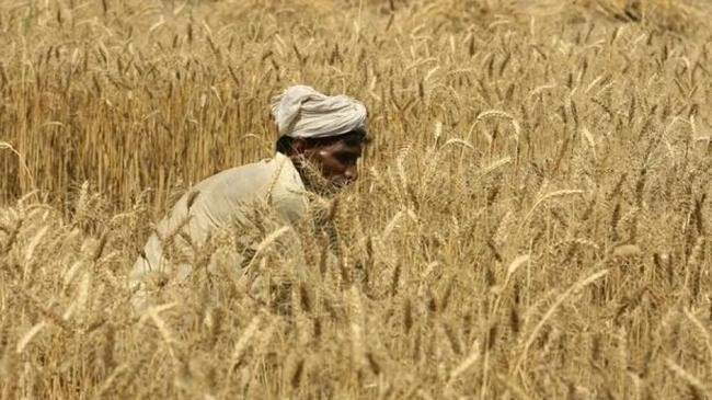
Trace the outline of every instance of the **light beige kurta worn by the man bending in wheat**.
<path fill-rule="evenodd" d="M 159 236 L 183 231 L 193 243 L 202 245 L 217 230 L 249 219 L 257 207 L 267 207 L 285 225 L 296 224 L 306 212 L 305 185 L 288 157 L 277 152 L 272 159 L 222 171 L 184 194 L 158 224 L 159 235 L 148 239 L 145 256 L 134 264 L 129 287 L 136 290 L 135 308 L 147 306 L 146 279 L 151 273 L 164 272 L 171 278 L 184 279 L 191 272 L 190 264 L 171 265 Z"/>

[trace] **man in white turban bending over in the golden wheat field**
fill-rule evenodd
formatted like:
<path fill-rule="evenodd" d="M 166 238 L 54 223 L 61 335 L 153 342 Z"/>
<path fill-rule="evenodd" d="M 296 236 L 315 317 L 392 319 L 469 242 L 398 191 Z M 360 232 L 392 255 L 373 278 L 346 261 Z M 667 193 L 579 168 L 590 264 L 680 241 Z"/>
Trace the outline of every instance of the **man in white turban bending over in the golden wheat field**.
<path fill-rule="evenodd" d="M 190 275 L 190 262 L 169 261 L 164 242 L 202 245 L 216 231 L 254 218 L 255 209 L 268 209 L 294 226 L 307 212 L 308 192 L 331 194 L 358 178 L 357 161 L 367 142 L 366 107 L 359 101 L 295 85 L 273 99 L 272 115 L 278 128 L 272 159 L 205 179 L 159 222 L 129 276 L 136 308 L 148 302 L 149 277 Z"/>

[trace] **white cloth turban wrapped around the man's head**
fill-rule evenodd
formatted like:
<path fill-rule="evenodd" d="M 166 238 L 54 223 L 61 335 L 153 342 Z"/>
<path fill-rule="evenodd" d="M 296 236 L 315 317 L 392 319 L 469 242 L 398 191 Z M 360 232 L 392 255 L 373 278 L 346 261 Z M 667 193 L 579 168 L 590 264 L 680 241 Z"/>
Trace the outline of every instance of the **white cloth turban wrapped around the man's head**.
<path fill-rule="evenodd" d="M 366 107 L 347 95 L 329 96 L 306 85 L 287 88 L 272 100 L 279 137 L 323 138 L 366 128 Z"/>

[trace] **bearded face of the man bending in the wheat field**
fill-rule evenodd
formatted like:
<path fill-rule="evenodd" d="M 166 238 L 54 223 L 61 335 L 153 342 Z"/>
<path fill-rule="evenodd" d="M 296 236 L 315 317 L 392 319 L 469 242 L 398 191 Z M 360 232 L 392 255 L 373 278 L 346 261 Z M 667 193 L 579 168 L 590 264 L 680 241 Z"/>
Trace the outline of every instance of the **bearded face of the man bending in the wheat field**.
<path fill-rule="evenodd" d="M 364 145 L 354 140 L 298 144 L 298 152 L 308 161 L 308 165 L 302 165 L 302 175 L 309 175 L 309 171 L 305 171 L 307 169 L 317 170 L 323 180 L 317 185 L 326 186 L 323 188 L 329 191 L 342 188 L 358 179 L 358 159 L 363 151 Z M 311 181 L 308 183 L 312 185 L 317 183 L 313 182 L 313 179 L 307 179 L 307 181 Z"/>

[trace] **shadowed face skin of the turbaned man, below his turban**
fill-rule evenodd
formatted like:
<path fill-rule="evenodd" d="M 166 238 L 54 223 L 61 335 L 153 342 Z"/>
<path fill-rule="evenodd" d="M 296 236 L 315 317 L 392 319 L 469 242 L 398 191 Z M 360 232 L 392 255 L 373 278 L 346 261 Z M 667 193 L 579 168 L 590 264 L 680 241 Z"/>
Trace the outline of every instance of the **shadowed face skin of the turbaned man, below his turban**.
<path fill-rule="evenodd" d="M 364 152 L 363 144 L 345 140 L 314 144 L 305 139 L 295 139 L 291 147 L 290 156 L 302 176 L 305 176 L 302 160 L 306 159 L 334 187 L 343 187 L 358 179 L 358 159 Z"/>

